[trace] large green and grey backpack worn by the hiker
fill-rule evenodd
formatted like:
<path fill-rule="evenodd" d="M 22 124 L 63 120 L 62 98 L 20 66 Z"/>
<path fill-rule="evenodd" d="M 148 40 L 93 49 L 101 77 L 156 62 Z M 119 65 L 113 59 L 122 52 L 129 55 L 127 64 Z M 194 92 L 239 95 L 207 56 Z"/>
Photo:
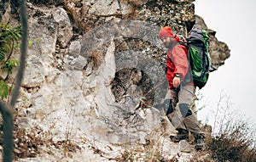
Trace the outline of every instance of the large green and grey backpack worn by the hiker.
<path fill-rule="evenodd" d="M 207 31 L 193 29 L 186 43 L 191 73 L 185 77 L 185 80 L 191 81 L 193 78 L 195 86 L 200 89 L 207 84 L 212 66 L 208 40 Z"/>

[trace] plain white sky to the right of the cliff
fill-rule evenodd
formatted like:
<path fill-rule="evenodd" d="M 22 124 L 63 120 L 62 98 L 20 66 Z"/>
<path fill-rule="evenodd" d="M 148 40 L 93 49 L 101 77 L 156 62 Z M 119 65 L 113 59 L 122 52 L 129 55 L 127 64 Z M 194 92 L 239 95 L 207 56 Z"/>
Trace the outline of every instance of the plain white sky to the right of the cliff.
<path fill-rule="evenodd" d="M 227 43 L 231 54 L 200 91 L 200 104 L 206 108 L 199 111 L 199 119 L 212 123 L 212 110 L 223 92 L 230 97 L 230 109 L 238 109 L 237 114 L 256 124 L 256 1 L 195 0 L 195 14 L 217 31 L 218 41 Z"/>

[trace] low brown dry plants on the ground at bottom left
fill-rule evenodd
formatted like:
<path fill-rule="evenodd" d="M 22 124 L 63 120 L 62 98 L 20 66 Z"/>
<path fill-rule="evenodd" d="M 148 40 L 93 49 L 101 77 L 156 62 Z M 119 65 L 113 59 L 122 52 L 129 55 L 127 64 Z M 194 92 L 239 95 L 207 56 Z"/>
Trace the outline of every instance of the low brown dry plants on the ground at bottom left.
<path fill-rule="evenodd" d="M 0 129 L 0 144 L 3 145 L 3 126 Z M 34 129 L 26 132 L 17 125 L 14 130 L 14 145 L 14 159 L 35 158 L 43 152 L 53 154 L 50 151 L 52 147 L 59 149 L 64 156 L 72 157 L 72 154 L 80 149 L 78 145 L 69 140 L 54 142 L 52 138 L 45 136 L 43 131 Z"/>

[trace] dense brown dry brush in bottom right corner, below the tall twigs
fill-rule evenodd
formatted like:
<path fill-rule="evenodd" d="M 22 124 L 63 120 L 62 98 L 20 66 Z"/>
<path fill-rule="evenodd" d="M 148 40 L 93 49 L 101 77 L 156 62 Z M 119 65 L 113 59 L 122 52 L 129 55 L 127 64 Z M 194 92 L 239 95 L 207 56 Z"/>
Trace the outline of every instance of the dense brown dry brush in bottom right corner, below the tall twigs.
<path fill-rule="evenodd" d="M 256 161 L 255 134 L 253 137 L 252 127 L 242 120 L 230 120 L 230 125 L 223 132 L 212 137 L 208 149 L 212 153 L 212 158 L 218 161 Z"/>

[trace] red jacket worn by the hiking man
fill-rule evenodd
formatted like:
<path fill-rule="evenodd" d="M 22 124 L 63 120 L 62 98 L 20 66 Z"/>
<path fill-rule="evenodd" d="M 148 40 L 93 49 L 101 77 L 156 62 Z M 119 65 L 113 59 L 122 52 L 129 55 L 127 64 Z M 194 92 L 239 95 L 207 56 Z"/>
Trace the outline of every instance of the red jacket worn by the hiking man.
<path fill-rule="evenodd" d="M 187 48 L 181 44 L 177 44 L 175 47 L 167 51 L 166 78 L 169 82 L 169 88 L 173 87 L 172 81 L 175 74 L 178 73 L 180 75 L 181 81 L 187 74 L 189 70 L 189 63 L 187 57 Z"/>

